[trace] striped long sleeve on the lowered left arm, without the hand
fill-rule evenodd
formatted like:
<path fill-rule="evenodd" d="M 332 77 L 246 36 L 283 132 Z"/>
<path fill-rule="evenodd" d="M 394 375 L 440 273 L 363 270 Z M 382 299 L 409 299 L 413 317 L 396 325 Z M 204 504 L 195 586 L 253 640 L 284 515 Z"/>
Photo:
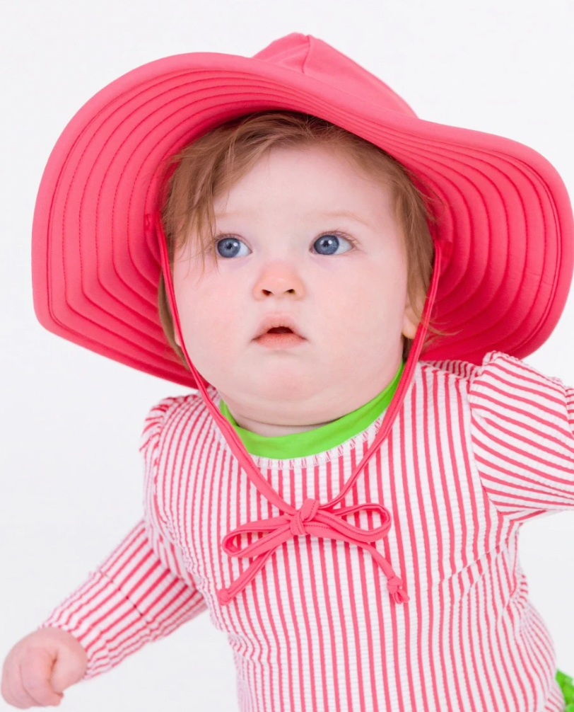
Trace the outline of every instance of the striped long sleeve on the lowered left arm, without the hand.
<path fill-rule="evenodd" d="M 78 639 L 88 656 L 83 679 L 111 669 L 206 609 L 154 507 L 161 421 L 178 399 L 161 400 L 145 419 L 139 447 L 144 458 L 144 517 L 38 626 L 57 627 Z"/>

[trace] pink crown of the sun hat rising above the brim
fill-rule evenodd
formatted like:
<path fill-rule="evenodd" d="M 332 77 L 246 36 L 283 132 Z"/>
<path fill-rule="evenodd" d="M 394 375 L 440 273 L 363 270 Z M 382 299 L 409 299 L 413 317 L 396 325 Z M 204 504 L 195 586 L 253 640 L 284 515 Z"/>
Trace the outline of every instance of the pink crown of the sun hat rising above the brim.
<path fill-rule="evenodd" d="M 416 117 L 405 100 L 381 79 L 312 35 L 292 32 L 267 45 L 253 59 L 291 69 L 381 108 Z"/>

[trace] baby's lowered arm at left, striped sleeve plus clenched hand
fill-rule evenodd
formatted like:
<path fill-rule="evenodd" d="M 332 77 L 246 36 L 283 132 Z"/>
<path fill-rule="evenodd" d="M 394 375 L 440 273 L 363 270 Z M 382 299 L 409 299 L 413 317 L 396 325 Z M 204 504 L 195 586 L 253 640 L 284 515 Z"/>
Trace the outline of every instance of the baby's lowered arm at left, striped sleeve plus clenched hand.
<path fill-rule="evenodd" d="M 1 694 L 20 708 L 117 665 L 205 608 L 177 550 L 142 519 L 90 577 L 6 656 Z"/>

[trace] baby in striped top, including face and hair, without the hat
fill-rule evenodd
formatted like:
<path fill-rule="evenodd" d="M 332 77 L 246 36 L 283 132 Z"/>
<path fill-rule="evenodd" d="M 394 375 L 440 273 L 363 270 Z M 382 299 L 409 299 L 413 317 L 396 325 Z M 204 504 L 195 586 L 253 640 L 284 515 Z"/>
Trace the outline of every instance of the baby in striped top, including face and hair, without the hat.
<path fill-rule="evenodd" d="M 142 518 L 11 649 L 6 701 L 58 705 L 207 610 L 241 710 L 564 710 L 516 548 L 574 506 L 574 389 L 498 349 L 419 359 L 459 331 L 430 320 L 442 199 L 285 108 L 193 137 L 164 179 L 156 314 L 196 387 L 150 409 Z"/>

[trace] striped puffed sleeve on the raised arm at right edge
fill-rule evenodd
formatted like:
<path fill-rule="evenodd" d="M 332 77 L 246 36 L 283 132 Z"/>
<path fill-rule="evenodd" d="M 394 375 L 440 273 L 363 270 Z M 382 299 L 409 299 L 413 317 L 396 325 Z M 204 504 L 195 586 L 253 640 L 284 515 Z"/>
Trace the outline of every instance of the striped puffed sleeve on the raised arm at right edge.
<path fill-rule="evenodd" d="M 574 389 L 501 351 L 469 375 L 474 459 L 512 520 L 574 508 Z"/>

